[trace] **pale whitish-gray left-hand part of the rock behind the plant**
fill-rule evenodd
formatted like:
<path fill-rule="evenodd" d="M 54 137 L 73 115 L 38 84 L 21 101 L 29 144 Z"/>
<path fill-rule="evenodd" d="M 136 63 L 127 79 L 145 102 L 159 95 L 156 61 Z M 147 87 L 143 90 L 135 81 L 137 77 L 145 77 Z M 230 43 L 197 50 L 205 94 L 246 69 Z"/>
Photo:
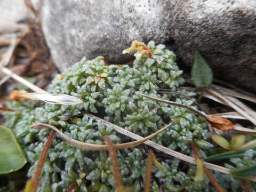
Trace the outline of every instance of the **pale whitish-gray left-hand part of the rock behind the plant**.
<path fill-rule="evenodd" d="M 45 0 L 42 25 L 52 57 L 65 70 L 84 55 L 103 55 L 108 62 L 124 63 L 122 51 L 134 39 L 164 42 L 170 38 L 168 0 L 101 1 Z"/>

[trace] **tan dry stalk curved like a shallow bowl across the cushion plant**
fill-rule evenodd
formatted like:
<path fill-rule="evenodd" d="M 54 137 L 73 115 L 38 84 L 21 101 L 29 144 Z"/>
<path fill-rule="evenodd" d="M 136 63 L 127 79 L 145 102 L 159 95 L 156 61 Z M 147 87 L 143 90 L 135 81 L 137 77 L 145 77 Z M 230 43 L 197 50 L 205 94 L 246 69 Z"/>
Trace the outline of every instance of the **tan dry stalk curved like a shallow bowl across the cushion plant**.
<path fill-rule="evenodd" d="M 114 145 L 116 150 L 119 149 L 125 149 L 125 148 L 130 148 L 130 147 L 135 147 L 140 145 L 141 143 L 150 140 L 152 138 L 154 138 L 158 133 L 164 131 L 165 129 L 167 129 L 168 127 L 170 127 L 173 123 L 170 123 L 169 125 L 164 126 L 162 129 L 158 130 L 157 132 L 149 135 L 146 138 L 140 139 L 138 141 L 132 141 L 132 142 L 126 142 L 126 143 L 121 143 L 121 144 L 116 144 Z M 65 140 L 66 142 L 68 142 L 71 146 L 80 148 L 80 149 L 86 149 L 86 150 L 108 150 L 108 146 L 107 145 L 96 145 L 96 144 L 90 144 L 90 143 L 85 143 L 85 142 L 81 142 L 81 141 L 77 141 L 75 139 L 72 139 L 70 137 L 68 137 L 66 134 L 62 133 L 60 130 L 58 130 L 55 126 L 50 125 L 50 124 L 46 124 L 46 123 L 41 123 L 41 122 L 36 122 L 33 123 L 31 125 L 31 128 L 41 128 L 41 127 L 49 127 L 52 130 L 56 131 L 57 134 L 59 135 L 59 137 L 63 140 Z"/>

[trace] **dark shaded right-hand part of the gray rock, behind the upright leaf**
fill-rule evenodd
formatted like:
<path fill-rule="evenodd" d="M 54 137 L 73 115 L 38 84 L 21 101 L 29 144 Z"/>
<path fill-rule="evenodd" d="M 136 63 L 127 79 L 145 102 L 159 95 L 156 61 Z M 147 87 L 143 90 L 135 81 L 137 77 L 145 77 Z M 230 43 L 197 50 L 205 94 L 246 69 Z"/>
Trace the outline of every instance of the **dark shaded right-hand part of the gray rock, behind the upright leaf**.
<path fill-rule="evenodd" d="M 172 37 L 191 64 L 202 53 L 214 76 L 256 91 L 256 1 L 177 1 Z"/>

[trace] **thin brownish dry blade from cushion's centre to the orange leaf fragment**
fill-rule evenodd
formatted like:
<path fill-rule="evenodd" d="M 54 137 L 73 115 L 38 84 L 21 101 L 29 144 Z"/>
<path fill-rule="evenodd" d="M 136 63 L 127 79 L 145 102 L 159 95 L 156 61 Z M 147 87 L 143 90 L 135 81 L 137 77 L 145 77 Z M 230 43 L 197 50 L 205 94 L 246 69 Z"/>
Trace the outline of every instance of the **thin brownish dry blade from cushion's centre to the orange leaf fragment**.
<path fill-rule="evenodd" d="M 164 99 L 160 99 L 160 98 L 156 98 L 156 97 L 151 97 L 149 95 L 142 94 L 142 93 L 139 93 L 139 92 L 136 92 L 136 93 L 141 95 L 141 96 L 143 96 L 143 97 L 149 98 L 149 99 L 153 99 L 153 100 L 156 100 L 156 101 L 159 101 L 159 102 L 164 102 L 164 103 L 168 103 L 170 105 L 186 108 L 186 109 L 190 110 L 191 112 L 193 112 L 194 114 L 199 115 L 199 116 L 207 119 L 207 116 L 205 114 L 203 114 L 201 111 L 199 111 L 197 109 L 194 109 L 194 108 L 191 108 L 189 106 L 183 105 L 181 103 L 177 103 L 177 102 L 173 102 L 173 101 L 168 101 L 168 100 L 164 100 Z"/>

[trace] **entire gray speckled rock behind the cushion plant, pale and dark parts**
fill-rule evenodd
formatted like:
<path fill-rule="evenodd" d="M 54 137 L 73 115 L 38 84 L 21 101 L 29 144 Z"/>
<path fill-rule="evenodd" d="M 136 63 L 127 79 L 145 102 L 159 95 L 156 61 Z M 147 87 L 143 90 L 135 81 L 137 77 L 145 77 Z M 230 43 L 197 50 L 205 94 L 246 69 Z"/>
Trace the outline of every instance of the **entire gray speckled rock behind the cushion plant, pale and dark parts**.
<path fill-rule="evenodd" d="M 124 63 L 137 39 L 174 39 L 185 63 L 200 51 L 215 77 L 256 91 L 255 0 L 45 0 L 42 25 L 60 70 L 84 55 Z"/>

